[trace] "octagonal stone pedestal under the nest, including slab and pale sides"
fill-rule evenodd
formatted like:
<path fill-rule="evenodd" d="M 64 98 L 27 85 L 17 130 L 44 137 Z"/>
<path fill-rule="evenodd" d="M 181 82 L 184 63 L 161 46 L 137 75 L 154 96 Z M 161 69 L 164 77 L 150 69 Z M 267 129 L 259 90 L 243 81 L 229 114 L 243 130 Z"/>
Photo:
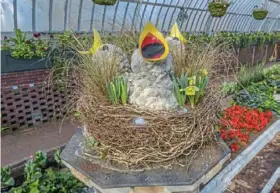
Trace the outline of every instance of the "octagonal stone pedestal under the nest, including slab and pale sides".
<path fill-rule="evenodd" d="M 213 178 L 230 156 L 229 148 L 221 141 L 198 152 L 189 167 L 124 172 L 103 167 L 94 150 L 83 145 L 84 140 L 82 131 L 77 131 L 61 159 L 73 175 L 101 193 L 199 192 L 199 186 Z"/>

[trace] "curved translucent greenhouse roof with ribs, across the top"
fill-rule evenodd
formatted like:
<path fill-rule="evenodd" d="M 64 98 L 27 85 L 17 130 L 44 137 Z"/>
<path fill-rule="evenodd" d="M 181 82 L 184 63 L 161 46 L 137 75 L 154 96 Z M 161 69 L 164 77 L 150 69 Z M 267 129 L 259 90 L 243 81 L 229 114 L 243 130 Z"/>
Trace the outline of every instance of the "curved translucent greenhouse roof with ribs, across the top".
<path fill-rule="evenodd" d="M 169 31 L 177 21 L 181 31 L 279 31 L 279 0 L 232 0 L 223 17 L 212 17 L 208 0 L 120 0 L 114 6 L 97 5 L 92 0 L 2 0 L 1 29 L 22 31 L 120 32 L 140 31 L 147 21 Z M 269 11 L 264 20 L 255 20 L 255 6 Z"/>

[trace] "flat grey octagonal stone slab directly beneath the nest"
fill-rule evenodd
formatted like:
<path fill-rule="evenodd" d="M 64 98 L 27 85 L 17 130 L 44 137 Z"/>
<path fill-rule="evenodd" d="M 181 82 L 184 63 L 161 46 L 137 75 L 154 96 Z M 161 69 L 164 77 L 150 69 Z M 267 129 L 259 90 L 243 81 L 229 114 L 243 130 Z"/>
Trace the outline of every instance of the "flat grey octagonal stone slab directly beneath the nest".
<path fill-rule="evenodd" d="M 83 153 L 81 152 L 84 152 L 82 150 L 84 148 L 82 145 L 84 141 L 85 138 L 80 129 L 62 151 L 61 159 L 66 163 L 67 167 L 74 168 L 103 189 L 192 185 L 230 154 L 229 148 L 224 142 L 221 142 L 202 149 L 188 168 L 174 166 L 172 169 L 158 168 L 145 171 L 122 172 L 104 168 L 100 163 L 82 155 Z M 92 148 L 87 149 L 86 154 L 90 153 L 95 155 Z"/>

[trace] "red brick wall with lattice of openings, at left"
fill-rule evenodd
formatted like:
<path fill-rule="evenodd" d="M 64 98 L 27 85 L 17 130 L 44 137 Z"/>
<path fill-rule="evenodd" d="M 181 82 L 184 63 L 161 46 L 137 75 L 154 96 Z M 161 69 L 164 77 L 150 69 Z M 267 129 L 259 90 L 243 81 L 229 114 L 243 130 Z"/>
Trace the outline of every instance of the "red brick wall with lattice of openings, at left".
<path fill-rule="evenodd" d="M 48 86 L 48 70 L 1 74 L 2 127 L 30 127 L 59 118 L 68 96 Z"/>

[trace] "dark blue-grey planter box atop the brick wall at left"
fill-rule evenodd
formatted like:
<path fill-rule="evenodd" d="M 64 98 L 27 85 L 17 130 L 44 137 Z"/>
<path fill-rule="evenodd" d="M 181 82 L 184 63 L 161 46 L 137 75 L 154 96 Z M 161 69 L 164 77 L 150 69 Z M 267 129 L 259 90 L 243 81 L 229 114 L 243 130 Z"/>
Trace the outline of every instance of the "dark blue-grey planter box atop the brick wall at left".
<path fill-rule="evenodd" d="M 1 73 L 39 70 L 50 67 L 51 61 L 49 58 L 16 59 L 11 56 L 10 51 L 1 51 Z"/>

